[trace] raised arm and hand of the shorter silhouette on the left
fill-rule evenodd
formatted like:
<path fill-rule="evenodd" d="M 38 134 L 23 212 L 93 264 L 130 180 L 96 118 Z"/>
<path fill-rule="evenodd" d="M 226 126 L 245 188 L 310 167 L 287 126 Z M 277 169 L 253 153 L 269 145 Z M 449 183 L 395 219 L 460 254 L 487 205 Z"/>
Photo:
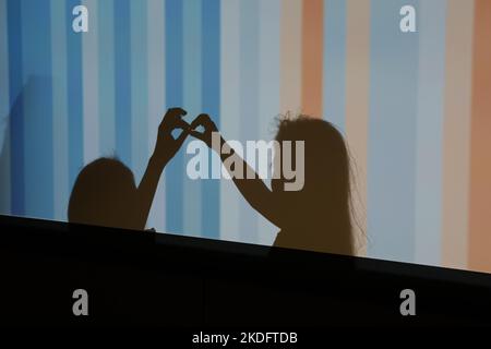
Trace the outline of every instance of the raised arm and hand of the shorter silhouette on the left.
<path fill-rule="evenodd" d="M 169 109 L 158 127 L 155 149 L 148 160 L 148 166 L 146 167 L 137 189 L 136 205 L 139 207 L 141 227 L 145 227 L 146 220 L 148 219 L 158 181 L 165 166 L 176 155 L 177 151 L 179 151 L 182 143 L 184 143 L 185 137 L 189 135 L 190 127 L 182 120 L 182 117 L 185 115 L 187 111 L 181 108 Z M 171 134 L 175 129 L 183 130 L 176 140 Z"/>

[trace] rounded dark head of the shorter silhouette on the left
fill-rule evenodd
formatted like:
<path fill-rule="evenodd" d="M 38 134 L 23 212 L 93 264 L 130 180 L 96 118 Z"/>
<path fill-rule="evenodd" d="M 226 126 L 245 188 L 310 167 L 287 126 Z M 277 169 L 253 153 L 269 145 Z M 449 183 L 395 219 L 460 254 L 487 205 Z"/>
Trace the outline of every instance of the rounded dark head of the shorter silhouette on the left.
<path fill-rule="evenodd" d="M 136 185 L 133 173 L 121 161 L 99 158 L 79 173 L 70 196 L 68 218 L 106 227 L 137 227 Z"/>

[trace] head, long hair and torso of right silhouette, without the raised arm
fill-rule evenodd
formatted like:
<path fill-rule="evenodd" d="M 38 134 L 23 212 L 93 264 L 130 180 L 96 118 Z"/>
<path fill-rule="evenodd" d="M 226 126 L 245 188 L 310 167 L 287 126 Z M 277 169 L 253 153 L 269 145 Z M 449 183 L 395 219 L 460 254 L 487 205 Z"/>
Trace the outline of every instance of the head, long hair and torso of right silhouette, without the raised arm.
<path fill-rule="evenodd" d="M 304 141 L 304 185 L 278 190 L 285 226 L 275 245 L 356 254 L 350 156 L 343 134 L 328 121 L 298 116 L 278 120 L 276 141 Z M 294 163 L 295 164 L 295 163 Z"/>

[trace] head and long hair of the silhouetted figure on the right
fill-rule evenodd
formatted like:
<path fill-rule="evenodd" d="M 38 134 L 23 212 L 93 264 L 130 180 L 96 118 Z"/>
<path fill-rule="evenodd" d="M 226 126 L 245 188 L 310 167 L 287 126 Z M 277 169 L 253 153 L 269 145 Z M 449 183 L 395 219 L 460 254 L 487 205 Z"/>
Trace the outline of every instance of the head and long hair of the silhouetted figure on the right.
<path fill-rule="evenodd" d="M 303 154 L 292 152 L 291 164 L 302 164 L 303 188 L 285 191 L 285 177 L 273 179 L 273 191 L 282 196 L 284 212 L 291 218 L 291 226 L 299 225 L 316 231 L 325 227 L 326 234 L 319 243 L 339 245 L 337 250 L 351 249 L 350 224 L 350 166 L 348 149 L 340 132 L 330 122 L 300 116 L 279 121 L 276 141 L 291 144 L 303 141 Z M 292 146 L 295 149 L 295 146 Z M 282 155 L 282 163 L 285 161 Z M 282 164 L 283 165 L 283 164 Z M 296 229 L 297 230 L 297 229 Z"/>

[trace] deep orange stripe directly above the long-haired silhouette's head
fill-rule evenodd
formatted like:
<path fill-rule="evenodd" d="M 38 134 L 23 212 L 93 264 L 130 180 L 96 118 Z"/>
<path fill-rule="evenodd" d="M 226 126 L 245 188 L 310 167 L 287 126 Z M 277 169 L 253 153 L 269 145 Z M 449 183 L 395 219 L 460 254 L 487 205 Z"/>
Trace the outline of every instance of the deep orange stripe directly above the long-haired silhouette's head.
<path fill-rule="evenodd" d="M 322 118 L 323 0 L 303 0 L 302 112 Z"/>

